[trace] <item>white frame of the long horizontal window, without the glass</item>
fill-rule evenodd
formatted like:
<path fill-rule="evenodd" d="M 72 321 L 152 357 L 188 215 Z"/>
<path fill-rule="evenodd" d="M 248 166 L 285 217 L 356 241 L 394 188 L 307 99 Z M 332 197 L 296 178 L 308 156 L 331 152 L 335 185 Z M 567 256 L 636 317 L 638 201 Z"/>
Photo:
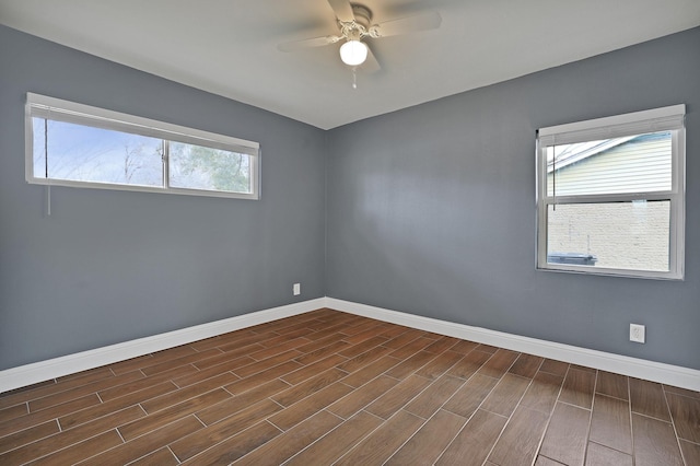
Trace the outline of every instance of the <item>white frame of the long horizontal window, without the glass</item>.
<path fill-rule="evenodd" d="M 163 185 L 140 186 L 118 183 L 80 182 L 34 176 L 34 125 L 33 117 L 47 118 L 63 123 L 83 125 L 115 131 L 136 133 L 163 139 L 167 142 L 183 142 L 220 149 L 250 158 L 250 193 L 232 193 L 205 190 L 195 188 L 176 188 L 168 185 L 167 149 L 163 160 Z M 128 191 L 167 193 L 187 196 L 225 197 L 237 199 L 259 199 L 260 197 L 260 144 L 254 141 L 202 131 L 199 129 L 158 121 L 119 112 L 93 107 L 75 102 L 63 101 L 46 95 L 27 92 L 25 105 L 25 177 L 26 182 L 36 185 L 69 186 L 78 188 L 117 189 Z"/>

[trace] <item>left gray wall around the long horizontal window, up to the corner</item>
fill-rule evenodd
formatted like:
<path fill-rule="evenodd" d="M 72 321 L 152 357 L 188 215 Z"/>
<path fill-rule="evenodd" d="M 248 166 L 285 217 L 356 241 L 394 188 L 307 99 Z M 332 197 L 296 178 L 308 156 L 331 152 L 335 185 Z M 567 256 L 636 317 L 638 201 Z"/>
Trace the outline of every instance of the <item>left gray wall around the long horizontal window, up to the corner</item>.
<path fill-rule="evenodd" d="M 24 182 L 27 91 L 258 141 L 262 197 L 54 187 L 46 217 Z M 0 26 L 0 370 L 323 296 L 325 147 L 311 126 Z"/>

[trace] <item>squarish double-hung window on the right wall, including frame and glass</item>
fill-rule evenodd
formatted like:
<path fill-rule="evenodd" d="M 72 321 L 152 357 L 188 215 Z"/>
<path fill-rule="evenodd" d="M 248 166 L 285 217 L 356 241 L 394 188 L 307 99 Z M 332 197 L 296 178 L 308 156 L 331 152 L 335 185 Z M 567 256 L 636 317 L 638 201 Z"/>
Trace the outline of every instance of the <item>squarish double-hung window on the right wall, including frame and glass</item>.
<path fill-rule="evenodd" d="M 538 130 L 537 267 L 682 279 L 685 105 Z"/>

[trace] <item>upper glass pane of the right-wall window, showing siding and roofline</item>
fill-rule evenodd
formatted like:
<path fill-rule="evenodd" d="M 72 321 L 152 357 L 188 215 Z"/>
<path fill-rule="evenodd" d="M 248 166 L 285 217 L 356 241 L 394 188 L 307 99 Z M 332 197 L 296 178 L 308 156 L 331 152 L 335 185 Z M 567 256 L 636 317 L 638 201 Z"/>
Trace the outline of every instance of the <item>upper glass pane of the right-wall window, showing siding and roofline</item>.
<path fill-rule="evenodd" d="M 670 190 L 670 166 L 669 131 L 548 147 L 547 195 Z"/>

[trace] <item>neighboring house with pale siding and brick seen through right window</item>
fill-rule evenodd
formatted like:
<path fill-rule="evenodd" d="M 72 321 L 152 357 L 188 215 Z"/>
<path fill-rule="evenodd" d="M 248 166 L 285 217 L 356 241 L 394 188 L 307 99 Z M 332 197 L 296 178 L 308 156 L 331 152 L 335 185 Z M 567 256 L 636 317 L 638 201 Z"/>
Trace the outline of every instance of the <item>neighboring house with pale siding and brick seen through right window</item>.
<path fill-rule="evenodd" d="M 584 265 L 668 270 L 669 201 L 600 205 L 591 199 L 597 195 L 667 191 L 672 186 L 670 167 L 669 132 L 558 145 L 556 158 L 548 154 L 547 166 L 548 194 L 562 199 L 548 212 L 549 261 L 562 254 L 575 254 Z M 565 203 L 572 196 L 586 199 Z M 611 236 L 610 231 L 617 234 Z M 586 264 L 590 255 L 594 258 Z"/>

